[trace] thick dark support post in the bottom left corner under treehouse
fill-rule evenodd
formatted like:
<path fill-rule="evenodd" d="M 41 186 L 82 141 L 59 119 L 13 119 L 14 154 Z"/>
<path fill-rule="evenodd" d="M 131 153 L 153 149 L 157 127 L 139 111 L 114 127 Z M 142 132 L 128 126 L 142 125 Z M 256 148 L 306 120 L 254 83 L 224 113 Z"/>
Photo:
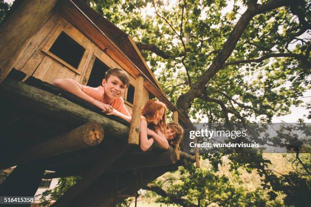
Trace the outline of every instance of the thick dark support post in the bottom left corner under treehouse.
<path fill-rule="evenodd" d="M 33 165 L 18 165 L 0 184 L 1 196 L 35 196 L 44 174 L 44 168 Z M 29 205 L 28 205 L 29 206 Z"/>

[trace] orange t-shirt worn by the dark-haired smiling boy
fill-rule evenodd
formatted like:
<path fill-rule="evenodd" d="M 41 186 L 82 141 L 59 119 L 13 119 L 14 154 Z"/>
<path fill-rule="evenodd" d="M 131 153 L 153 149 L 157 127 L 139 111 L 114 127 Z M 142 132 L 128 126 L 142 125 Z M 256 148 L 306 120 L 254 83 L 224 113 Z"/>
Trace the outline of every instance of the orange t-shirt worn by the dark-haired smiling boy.
<path fill-rule="evenodd" d="M 105 89 L 103 86 L 99 86 L 97 88 L 89 87 L 89 86 L 83 86 L 82 85 L 82 91 L 86 93 L 87 95 L 95 98 L 96 100 L 99 100 L 105 104 Z M 116 98 L 114 101 L 112 101 L 110 105 L 113 109 L 121 112 L 122 114 L 126 116 L 131 116 L 128 112 L 127 108 L 124 106 L 124 101 L 121 97 Z"/>

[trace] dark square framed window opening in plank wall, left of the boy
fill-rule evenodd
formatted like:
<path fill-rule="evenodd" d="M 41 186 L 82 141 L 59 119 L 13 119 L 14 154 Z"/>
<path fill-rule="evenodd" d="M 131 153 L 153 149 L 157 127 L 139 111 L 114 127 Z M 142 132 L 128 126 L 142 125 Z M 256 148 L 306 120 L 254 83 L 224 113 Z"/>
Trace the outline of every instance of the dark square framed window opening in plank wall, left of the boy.
<path fill-rule="evenodd" d="M 59 34 L 49 51 L 71 66 L 78 68 L 85 48 L 63 31 Z"/>

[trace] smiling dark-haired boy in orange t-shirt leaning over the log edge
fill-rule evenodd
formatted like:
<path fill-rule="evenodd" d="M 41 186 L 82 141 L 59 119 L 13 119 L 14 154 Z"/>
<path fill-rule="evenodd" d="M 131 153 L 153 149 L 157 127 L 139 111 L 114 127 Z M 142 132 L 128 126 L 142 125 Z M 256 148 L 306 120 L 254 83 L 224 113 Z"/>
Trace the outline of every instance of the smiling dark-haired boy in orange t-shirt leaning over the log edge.
<path fill-rule="evenodd" d="M 118 68 L 108 70 L 103 86 L 97 88 L 81 85 L 72 79 L 56 79 L 52 84 L 90 102 L 108 115 L 113 112 L 123 119 L 131 117 L 121 98 L 130 85 L 130 79 L 125 71 Z"/>

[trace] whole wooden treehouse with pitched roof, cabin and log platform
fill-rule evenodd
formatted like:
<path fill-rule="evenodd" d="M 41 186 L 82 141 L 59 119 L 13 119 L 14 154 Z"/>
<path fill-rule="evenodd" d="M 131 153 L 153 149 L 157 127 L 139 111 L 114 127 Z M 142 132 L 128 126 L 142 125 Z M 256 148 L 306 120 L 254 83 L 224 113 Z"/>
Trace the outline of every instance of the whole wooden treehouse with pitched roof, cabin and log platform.
<path fill-rule="evenodd" d="M 17 165 L 0 196 L 33 196 L 42 178 L 82 176 L 53 206 L 114 206 L 196 161 L 172 147 L 140 150 L 140 109 L 150 98 L 164 102 L 184 128 L 193 126 L 167 99 L 131 37 L 87 4 L 16 0 L 0 26 L 0 167 Z M 51 85 L 71 78 L 96 87 L 114 67 L 130 76 L 123 99 L 131 123 Z"/>

